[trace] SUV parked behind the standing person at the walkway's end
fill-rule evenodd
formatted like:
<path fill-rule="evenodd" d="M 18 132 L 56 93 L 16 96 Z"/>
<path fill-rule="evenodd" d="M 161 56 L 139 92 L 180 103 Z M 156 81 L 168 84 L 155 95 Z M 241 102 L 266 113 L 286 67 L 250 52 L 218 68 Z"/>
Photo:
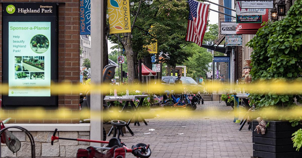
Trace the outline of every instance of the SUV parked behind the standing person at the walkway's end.
<path fill-rule="evenodd" d="M 163 76 L 162 77 L 162 84 L 163 85 L 175 85 L 175 79 L 177 76 Z M 182 85 L 192 91 L 194 94 L 196 93 L 203 93 L 204 92 L 204 87 L 202 85 L 198 85 L 198 83 L 192 79 L 191 77 L 184 77 L 182 76 Z M 170 90 L 173 90 L 171 88 Z"/>

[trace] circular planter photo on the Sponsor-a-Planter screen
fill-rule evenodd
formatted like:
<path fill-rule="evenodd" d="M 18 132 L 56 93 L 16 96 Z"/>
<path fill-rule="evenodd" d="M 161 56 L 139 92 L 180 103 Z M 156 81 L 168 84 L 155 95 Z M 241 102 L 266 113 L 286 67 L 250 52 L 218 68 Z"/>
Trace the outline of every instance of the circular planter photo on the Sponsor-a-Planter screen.
<path fill-rule="evenodd" d="M 37 34 L 31 39 L 31 50 L 35 53 L 44 53 L 49 47 L 49 41 L 47 37 L 42 34 Z"/>

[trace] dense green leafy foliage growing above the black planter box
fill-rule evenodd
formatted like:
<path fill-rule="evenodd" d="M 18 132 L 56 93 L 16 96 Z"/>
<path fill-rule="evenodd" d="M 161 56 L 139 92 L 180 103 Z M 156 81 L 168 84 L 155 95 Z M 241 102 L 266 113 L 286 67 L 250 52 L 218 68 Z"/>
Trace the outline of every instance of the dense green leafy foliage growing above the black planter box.
<path fill-rule="evenodd" d="M 288 82 L 302 77 L 302 1 L 297 0 L 286 18 L 267 22 L 248 43 L 253 48 L 253 82 L 284 79 Z M 302 102 L 301 95 L 254 94 L 252 102 L 257 108 L 294 105 L 294 98 Z"/>

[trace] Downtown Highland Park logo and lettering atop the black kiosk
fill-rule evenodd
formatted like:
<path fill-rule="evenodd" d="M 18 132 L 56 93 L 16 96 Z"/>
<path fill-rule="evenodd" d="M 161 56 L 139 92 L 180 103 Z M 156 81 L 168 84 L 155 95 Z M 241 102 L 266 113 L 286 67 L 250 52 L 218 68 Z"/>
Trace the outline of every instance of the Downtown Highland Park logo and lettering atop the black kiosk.
<path fill-rule="evenodd" d="M 32 8 L 18 8 L 18 13 L 53 13 L 53 6 L 49 5 L 40 5 L 40 8 L 38 9 L 32 9 Z M 14 5 L 8 5 L 6 7 L 6 11 L 8 14 L 13 14 L 16 11 L 16 8 Z"/>

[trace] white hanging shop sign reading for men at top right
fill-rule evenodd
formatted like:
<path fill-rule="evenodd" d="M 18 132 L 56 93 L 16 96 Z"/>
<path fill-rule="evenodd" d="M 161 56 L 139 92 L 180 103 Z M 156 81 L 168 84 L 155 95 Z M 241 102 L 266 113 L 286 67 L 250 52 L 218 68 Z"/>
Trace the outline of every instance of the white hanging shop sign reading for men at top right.
<path fill-rule="evenodd" d="M 241 1 L 241 8 L 273 8 L 273 1 Z"/>

